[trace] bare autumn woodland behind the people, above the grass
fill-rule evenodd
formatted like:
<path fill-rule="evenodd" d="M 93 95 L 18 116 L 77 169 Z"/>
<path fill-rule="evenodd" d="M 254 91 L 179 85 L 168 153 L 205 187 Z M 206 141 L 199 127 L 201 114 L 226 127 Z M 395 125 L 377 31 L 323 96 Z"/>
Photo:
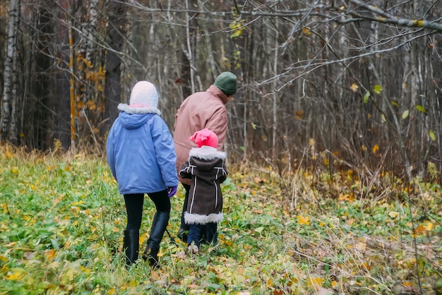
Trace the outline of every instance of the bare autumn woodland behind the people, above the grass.
<path fill-rule="evenodd" d="M 381 171 L 437 183 L 441 9 L 440 0 L 2 0 L 1 140 L 100 154 L 138 80 L 157 85 L 172 129 L 187 95 L 232 71 L 232 162 L 344 169 L 366 186 Z"/>

